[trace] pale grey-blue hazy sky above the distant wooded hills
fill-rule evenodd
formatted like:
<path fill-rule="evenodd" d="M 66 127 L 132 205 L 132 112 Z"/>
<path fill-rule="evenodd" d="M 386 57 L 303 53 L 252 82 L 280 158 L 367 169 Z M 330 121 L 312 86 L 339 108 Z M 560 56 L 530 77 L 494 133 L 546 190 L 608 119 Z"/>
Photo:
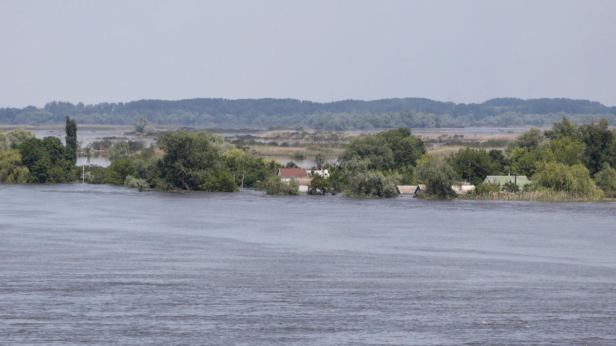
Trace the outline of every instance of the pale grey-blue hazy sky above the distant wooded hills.
<path fill-rule="evenodd" d="M 568 97 L 616 105 L 616 1 L 0 0 L 0 107 Z"/>

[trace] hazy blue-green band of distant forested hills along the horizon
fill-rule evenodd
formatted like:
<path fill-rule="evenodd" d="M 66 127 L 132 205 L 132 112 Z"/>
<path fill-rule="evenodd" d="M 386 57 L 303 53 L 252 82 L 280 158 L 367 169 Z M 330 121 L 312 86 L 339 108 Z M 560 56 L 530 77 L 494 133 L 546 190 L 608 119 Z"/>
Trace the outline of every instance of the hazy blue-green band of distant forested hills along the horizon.
<path fill-rule="evenodd" d="M 140 118 L 167 126 L 296 127 L 322 131 L 463 126 L 551 125 L 563 116 L 575 123 L 606 118 L 616 123 L 616 107 L 590 100 L 498 98 L 483 103 L 423 98 L 344 100 L 328 103 L 296 99 L 186 99 L 132 102 L 49 102 L 43 108 L 0 108 L 0 124 L 133 124 Z"/>

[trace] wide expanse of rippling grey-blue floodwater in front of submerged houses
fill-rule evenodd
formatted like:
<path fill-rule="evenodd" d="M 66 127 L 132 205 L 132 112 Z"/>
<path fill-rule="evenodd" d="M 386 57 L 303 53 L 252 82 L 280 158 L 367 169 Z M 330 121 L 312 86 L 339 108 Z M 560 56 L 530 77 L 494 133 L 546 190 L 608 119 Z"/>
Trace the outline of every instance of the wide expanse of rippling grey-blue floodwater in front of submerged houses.
<path fill-rule="evenodd" d="M 0 344 L 614 345 L 615 211 L 0 185 Z"/>

